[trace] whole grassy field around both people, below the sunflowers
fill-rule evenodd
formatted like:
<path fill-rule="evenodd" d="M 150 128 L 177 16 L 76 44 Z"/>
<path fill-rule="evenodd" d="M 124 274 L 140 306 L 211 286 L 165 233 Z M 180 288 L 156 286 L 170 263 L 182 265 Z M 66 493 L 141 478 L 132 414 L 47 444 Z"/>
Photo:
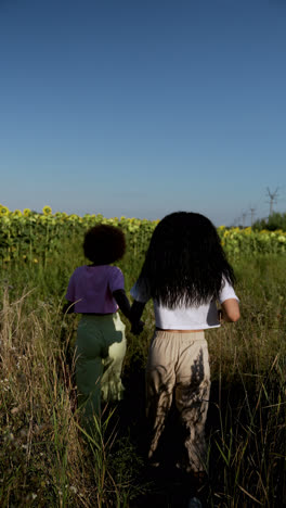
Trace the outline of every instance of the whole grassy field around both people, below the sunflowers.
<path fill-rule="evenodd" d="M 78 245 L 46 267 L 10 263 L 0 272 L 0 505 L 134 508 L 157 499 L 158 506 L 144 461 L 152 305 L 139 338 L 127 323 L 125 399 L 105 408 L 96 435 L 84 436 L 74 382 L 78 317 L 62 315 L 68 278 L 84 263 Z M 120 263 L 127 290 L 141 261 L 132 251 Z M 242 318 L 207 332 L 207 506 L 285 506 L 286 257 L 236 256 L 233 264 Z M 165 491 L 159 506 L 180 506 Z"/>

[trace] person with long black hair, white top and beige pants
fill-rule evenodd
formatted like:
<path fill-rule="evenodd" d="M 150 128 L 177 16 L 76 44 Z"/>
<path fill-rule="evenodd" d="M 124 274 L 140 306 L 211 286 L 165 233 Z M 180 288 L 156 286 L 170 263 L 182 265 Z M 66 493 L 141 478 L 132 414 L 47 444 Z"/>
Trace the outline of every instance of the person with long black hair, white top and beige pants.
<path fill-rule="evenodd" d="M 174 398 L 185 436 L 178 466 L 197 478 L 206 471 L 210 369 L 205 330 L 239 318 L 233 284 L 233 269 L 207 217 L 176 212 L 158 224 L 131 290 L 133 319 L 154 301 L 156 330 L 146 367 L 148 458 L 154 466 L 160 465 L 159 440 Z"/>

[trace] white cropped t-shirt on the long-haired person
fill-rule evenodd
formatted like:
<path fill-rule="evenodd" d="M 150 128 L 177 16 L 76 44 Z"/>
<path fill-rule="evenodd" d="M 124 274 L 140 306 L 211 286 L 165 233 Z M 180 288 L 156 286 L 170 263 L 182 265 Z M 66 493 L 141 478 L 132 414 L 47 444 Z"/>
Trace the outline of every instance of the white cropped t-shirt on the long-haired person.
<path fill-rule="evenodd" d="M 135 282 L 130 291 L 131 296 L 138 302 L 146 303 L 150 295 Z M 233 287 L 224 279 L 219 293 L 219 303 L 225 300 L 235 299 L 238 301 Z M 206 330 L 208 328 L 220 327 L 216 299 L 199 306 L 180 305 L 177 308 L 168 308 L 154 300 L 154 312 L 156 327 L 164 330 Z"/>

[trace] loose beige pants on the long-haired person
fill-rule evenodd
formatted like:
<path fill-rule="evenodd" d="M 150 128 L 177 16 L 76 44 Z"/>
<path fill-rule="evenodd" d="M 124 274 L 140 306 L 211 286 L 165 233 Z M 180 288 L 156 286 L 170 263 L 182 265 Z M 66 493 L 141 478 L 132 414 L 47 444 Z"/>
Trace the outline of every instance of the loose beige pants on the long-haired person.
<path fill-rule="evenodd" d="M 182 426 L 186 472 L 206 470 L 205 423 L 210 391 L 208 345 L 204 331 L 156 330 L 146 367 L 146 414 L 151 429 L 148 458 L 156 462 L 156 449 L 168 411 L 176 397 Z"/>

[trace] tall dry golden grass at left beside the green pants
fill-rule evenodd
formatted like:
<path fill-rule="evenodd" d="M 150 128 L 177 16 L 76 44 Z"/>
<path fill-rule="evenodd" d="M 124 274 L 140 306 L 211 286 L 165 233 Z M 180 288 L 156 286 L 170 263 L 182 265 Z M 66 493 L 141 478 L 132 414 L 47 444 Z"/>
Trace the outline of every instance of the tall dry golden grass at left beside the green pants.
<path fill-rule="evenodd" d="M 69 341 L 77 317 L 67 325 L 61 305 L 36 305 L 32 291 L 11 302 L 9 292 L 0 316 L 0 505 L 123 506 L 142 488 L 122 470 L 128 457 L 123 462 L 120 436 L 115 444 L 115 408 L 94 419 L 89 435 L 75 405 Z M 135 470 L 141 459 L 129 450 Z"/>

